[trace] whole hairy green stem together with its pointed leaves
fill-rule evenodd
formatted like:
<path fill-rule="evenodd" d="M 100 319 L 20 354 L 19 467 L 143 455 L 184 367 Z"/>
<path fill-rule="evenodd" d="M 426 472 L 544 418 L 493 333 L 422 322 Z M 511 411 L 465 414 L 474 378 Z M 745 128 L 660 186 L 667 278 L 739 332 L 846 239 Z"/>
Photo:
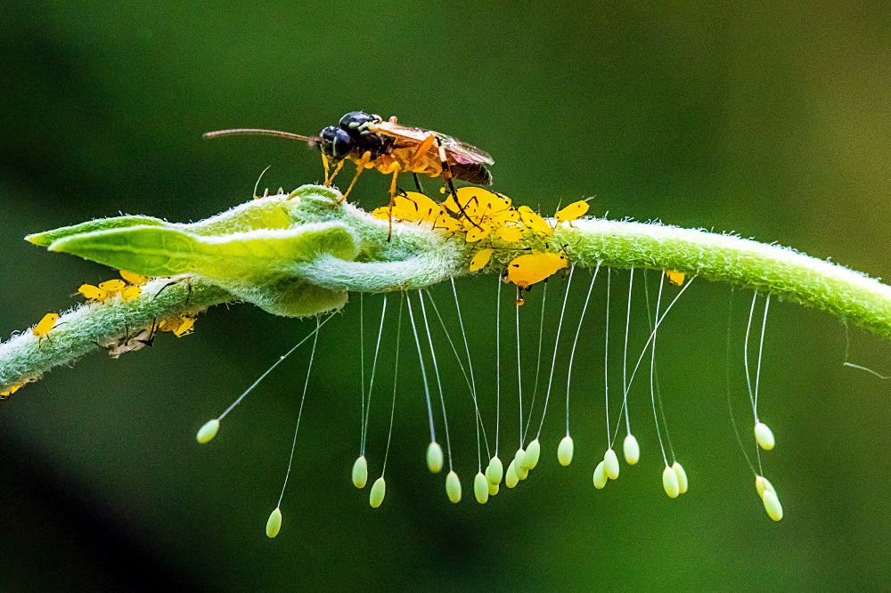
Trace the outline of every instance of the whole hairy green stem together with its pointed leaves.
<path fill-rule="evenodd" d="M 192 239 L 187 243 L 187 251 L 176 255 L 189 264 L 192 260 L 188 257 L 201 249 L 201 259 L 196 261 L 210 266 L 208 269 L 217 275 L 224 274 L 225 282 L 213 275 L 202 277 L 197 272 L 189 280 L 172 284 L 170 280 L 152 280 L 146 285 L 143 296 L 133 301 L 125 303 L 118 298 L 109 304 L 82 305 L 65 313 L 43 339 L 37 339 L 30 331 L 12 337 L 0 345 L 0 387 L 39 378 L 47 370 L 77 361 L 100 345 L 113 345 L 122 338 L 135 335 L 140 329 L 151 327 L 154 320 L 197 313 L 236 298 L 263 306 L 273 313 L 305 316 L 342 306 L 347 301 L 347 292 L 423 288 L 468 273 L 470 257 L 484 247 L 496 248 L 485 269 L 487 272 L 503 272 L 514 257 L 527 253 L 518 251 L 518 248 L 561 248 L 576 265 L 594 267 L 601 264 L 696 274 L 707 280 L 753 288 L 822 309 L 881 337 L 891 338 L 891 287 L 860 272 L 789 248 L 658 223 L 597 218 L 575 221 L 572 226 L 560 224 L 554 236 L 547 240 L 538 238 L 492 245 L 486 241 L 468 244 L 461 235 L 432 231 L 417 224 L 394 223 L 393 238 L 388 241 L 386 220 L 374 218 L 349 204 L 341 204 L 339 197 L 339 192 L 331 188 L 304 186 L 288 195 L 254 200 L 211 219 L 212 222 L 220 219 L 215 222 L 217 226 L 223 225 L 218 232 L 208 223 L 180 225 L 184 233 L 193 234 L 184 235 Z M 270 232 L 270 221 L 273 221 L 274 229 L 281 230 Z M 154 226 L 164 224 L 153 219 L 149 222 Z M 151 232 L 152 227 L 147 227 L 144 222 L 134 223 L 128 218 L 124 223 L 141 225 L 135 227 L 136 232 L 143 233 L 140 236 Z M 121 236 L 115 234 L 119 231 L 114 230 L 118 224 L 114 219 L 88 224 L 111 229 L 96 236 L 111 233 L 115 240 L 121 240 Z M 149 231 L 145 231 L 147 228 Z M 315 229 L 319 233 L 319 229 L 331 232 L 326 231 L 331 228 L 335 232 L 343 230 L 339 232 L 339 242 L 331 240 L 323 244 L 328 247 L 320 247 L 317 252 L 310 248 L 315 245 L 311 233 L 301 234 L 301 229 Z M 85 232 L 93 232 L 91 229 L 92 226 Z M 67 229 L 57 232 L 70 235 Z M 97 249 L 90 243 L 84 253 L 78 253 L 77 240 L 66 239 L 69 241 L 66 244 L 56 240 L 53 233 L 56 232 L 32 236 L 31 240 L 52 250 L 67 250 L 94 261 L 149 275 L 152 272 L 141 271 L 129 264 L 131 261 L 134 265 L 140 261 L 166 262 L 170 256 L 171 243 L 166 239 L 151 251 L 152 259 L 119 261 L 122 253 L 127 254 L 126 250 Z M 219 262 L 214 263 L 214 246 L 235 240 L 241 241 L 245 247 L 240 247 L 240 251 L 230 247 L 225 255 L 216 256 Z M 266 247 L 265 241 L 273 247 Z M 296 251 L 289 251 L 282 249 L 282 245 L 291 245 L 287 241 L 302 242 Z M 355 247 L 343 247 L 353 245 L 351 241 L 356 242 Z M 332 249 L 340 249 L 341 255 L 355 254 L 355 259 L 331 255 L 337 252 Z M 298 253 L 300 259 L 292 259 L 293 253 Z M 241 272 L 233 275 L 232 263 L 238 261 L 244 267 L 243 262 L 251 256 L 258 257 L 257 261 L 273 270 L 274 275 L 265 276 L 260 272 L 255 276 L 242 276 Z M 167 288 L 160 290 L 167 284 Z M 287 307 L 270 305 L 277 304 L 276 299 L 282 295 L 290 299 Z"/>

